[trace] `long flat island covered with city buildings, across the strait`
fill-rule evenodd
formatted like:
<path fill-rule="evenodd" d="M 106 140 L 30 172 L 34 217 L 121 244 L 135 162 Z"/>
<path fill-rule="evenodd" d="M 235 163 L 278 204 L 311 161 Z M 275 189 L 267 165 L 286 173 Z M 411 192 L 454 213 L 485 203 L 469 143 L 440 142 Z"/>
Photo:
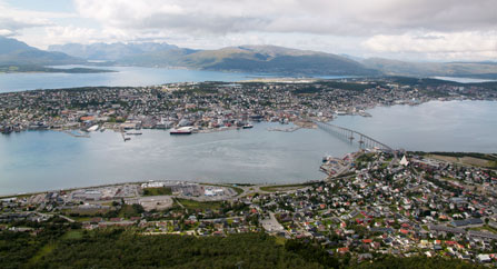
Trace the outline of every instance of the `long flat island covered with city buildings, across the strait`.
<path fill-rule="evenodd" d="M 431 100 L 497 100 L 497 82 L 458 83 L 405 77 L 182 82 L 0 93 L 0 132 L 172 129 L 185 133 L 242 129 L 250 122 L 316 128 L 341 114 L 369 117 L 376 106 Z M 284 129 L 286 130 L 286 129 Z M 291 131 L 291 130 L 289 130 Z"/>

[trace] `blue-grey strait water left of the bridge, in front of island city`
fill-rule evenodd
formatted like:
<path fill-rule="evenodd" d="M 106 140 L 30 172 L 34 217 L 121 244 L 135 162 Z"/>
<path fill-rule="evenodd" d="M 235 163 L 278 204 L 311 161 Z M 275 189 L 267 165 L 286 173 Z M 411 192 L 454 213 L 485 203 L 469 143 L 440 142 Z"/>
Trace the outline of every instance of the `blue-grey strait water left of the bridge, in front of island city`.
<path fill-rule="evenodd" d="M 150 179 L 301 182 L 325 177 L 319 172 L 325 153 L 356 150 L 324 131 L 270 127 L 279 123 L 179 137 L 142 130 L 127 142 L 109 130 L 91 138 L 58 131 L 0 136 L 0 195 Z"/>

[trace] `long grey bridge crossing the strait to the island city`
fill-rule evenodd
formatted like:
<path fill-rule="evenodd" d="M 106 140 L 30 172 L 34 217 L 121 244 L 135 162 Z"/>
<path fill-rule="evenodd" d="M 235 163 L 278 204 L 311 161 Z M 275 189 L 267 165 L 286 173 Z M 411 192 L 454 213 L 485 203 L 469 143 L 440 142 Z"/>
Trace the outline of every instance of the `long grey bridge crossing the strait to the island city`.
<path fill-rule="evenodd" d="M 385 151 L 389 151 L 389 152 L 394 151 L 394 149 L 390 148 L 389 146 L 387 146 L 371 137 L 368 137 L 364 133 L 360 133 L 358 131 L 355 131 L 355 130 L 351 130 L 348 128 L 344 128 L 344 127 L 339 127 L 336 124 L 331 124 L 328 122 L 315 121 L 315 123 L 318 126 L 318 128 L 320 128 L 329 133 L 345 138 L 345 139 L 349 140 L 350 142 L 357 141 L 359 143 L 359 148 L 361 148 L 361 149 L 378 148 L 380 150 L 385 150 Z"/>

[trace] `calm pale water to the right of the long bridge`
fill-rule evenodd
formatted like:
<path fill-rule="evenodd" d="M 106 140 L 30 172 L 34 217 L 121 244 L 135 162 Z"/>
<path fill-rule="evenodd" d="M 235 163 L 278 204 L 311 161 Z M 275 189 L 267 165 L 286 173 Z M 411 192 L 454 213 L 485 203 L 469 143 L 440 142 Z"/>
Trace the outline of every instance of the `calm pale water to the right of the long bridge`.
<path fill-rule="evenodd" d="M 431 101 L 377 107 L 371 118 L 342 116 L 335 124 L 366 133 L 391 148 L 497 153 L 497 102 Z"/>

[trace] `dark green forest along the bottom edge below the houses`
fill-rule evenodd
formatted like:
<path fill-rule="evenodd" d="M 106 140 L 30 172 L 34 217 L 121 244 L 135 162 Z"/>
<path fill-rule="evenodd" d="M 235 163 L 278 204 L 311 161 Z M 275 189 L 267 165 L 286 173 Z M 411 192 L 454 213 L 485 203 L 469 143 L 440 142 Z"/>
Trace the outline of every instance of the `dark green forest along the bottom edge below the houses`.
<path fill-rule="evenodd" d="M 56 219 L 32 232 L 0 232 L 1 268 L 477 268 L 441 258 L 375 255 L 358 263 L 319 245 L 266 233 L 228 237 L 141 236 L 135 230 L 81 231 Z"/>

